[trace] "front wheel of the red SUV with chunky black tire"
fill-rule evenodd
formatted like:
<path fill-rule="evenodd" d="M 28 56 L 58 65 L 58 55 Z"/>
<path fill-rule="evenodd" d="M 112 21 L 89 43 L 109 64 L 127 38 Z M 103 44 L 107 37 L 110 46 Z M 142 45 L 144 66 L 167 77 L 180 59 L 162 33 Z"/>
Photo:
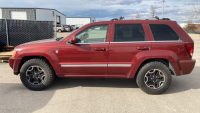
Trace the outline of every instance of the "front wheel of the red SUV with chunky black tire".
<path fill-rule="evenodd" d="M 32 68 L 32 70 L 30 70 Z M 35 74 L 32 74 L 31 72 L 31 76 L 28 76 L 28 73 L 29 71 L 34 71 L 33 73 L 35 73 L 35 69 L 34 68 L 40 68 L 40 71 L 43 73 L 41 74 L 40 71 L 37 71 L 38 74 L 37 76 L 37 84 L 34 82 L 34 83 L 31 83 L 32 81 L 35 81 L 36 79 L 36 75 Z M 41 79 L 39 80 L 39 76 L 43 76 L 41 78 L 43 78 L 44 80 L 42 81 Z M 32 79 L 30 79 L 32 78 Z M 52 67 L 49 65 L 48 62 L 46 62 L 45 60 L 43 59 L 38 59 L 38 58 L 35 58 L 35 59 L 30 59 L 28 60 L 27 62 L 25 62 L 20 70 L 20 79 L 22 81 L 22 83 L 24 84 L 25 87 L 27 87 L 28 89 L 30 90 L 44 90 L 45 88 L 49 87 L 53 81 L 54 81 L 54 78 L 55 78 L 55 73 L 52 69 Z M 28 80 L 29 79 L 29 80 Z M 39 83 L 40 81 L 40 83 Z"/>

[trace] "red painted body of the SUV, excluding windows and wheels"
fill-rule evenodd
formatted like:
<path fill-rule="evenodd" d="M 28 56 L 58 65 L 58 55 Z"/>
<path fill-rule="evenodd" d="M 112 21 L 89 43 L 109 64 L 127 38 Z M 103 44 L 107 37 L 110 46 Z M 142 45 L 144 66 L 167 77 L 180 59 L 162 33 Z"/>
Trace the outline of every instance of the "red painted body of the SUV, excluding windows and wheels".
<path fill-rule="evenodd" d="M 142 24 L 147 41 L 113 42 L 115 24 Z M 109 25 L 105 43 L 69 44 L 68 41 L 82 30 L 93 25 Z M 182 38 L 182 41 L 154 41 L 148 24 L 167 24 Z M 22 44 L 15 48 L 14 58 L 9 59 L 14 74 L 19 73 L 21 59 L 28 56 L 45 57 L 59 77 L 109 77 L 133 78 L 140 65 L 148 59 L 168 60 L 176 75 L 191 73 L 195 60 L 191 60 L 185 44 L 193 40 L 175 21 L 123 20 L 95 22 L 83 26 L 61 41 L 48 39 Z M 104 48 L 104 49 L 102 49 Z M 58 53 L 56 53 L 58 51 Z M 99 64 L 102 66 L 90 65 Z M 69 67 L 79 65 L 79 67 Z M 81 67 L 86 65 L 86 67 Z M 88 67 L 89 66 L 89 67 Z"/>

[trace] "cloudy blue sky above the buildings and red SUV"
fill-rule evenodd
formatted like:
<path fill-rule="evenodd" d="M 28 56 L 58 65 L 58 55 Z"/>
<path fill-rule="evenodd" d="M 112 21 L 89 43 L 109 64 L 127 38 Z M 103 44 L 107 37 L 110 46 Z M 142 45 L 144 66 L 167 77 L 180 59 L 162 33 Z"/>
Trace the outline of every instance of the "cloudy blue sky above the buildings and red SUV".
<path fill-rule="evenodd" d="M 187 22 L 192 6 L 196 4 L 200 5 L 200 0 L 166 0 L 164 17 L 179 23 Z M 130 19 L 136 13 L 141 18 L 149 18 L 151 5 L 156 7 L 155 15 L 161 18 L 162 0 L 0 0 L 0 7 L 53 8 L 66 16 L 92 16 L 97 21 L 120 16 Z"/>

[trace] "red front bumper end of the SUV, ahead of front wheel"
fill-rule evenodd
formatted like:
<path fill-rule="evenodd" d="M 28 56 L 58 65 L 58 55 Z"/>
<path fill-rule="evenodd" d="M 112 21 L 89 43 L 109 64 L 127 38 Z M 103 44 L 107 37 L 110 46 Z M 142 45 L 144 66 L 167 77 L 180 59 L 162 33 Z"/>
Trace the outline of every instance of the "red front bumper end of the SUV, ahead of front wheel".
<path fill-rule="evenodd" d="M 19 58 L 13 58 L 13 57 L 9 58 L 9 65 L 13 69 L 15 75 L 19 74 L 18 67 L 19 67 L 20 61 L 21 59 Z"/>

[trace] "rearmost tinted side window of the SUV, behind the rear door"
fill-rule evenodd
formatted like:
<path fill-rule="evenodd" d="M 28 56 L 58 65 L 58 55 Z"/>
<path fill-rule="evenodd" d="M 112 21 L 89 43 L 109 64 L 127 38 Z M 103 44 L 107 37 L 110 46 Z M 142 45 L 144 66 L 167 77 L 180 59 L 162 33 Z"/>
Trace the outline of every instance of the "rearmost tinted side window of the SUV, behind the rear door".
<path fill-rule="evenodd" d="M 149 24 L 155 41 L 181 40 L 177 33 L 166 24 Z"/>

